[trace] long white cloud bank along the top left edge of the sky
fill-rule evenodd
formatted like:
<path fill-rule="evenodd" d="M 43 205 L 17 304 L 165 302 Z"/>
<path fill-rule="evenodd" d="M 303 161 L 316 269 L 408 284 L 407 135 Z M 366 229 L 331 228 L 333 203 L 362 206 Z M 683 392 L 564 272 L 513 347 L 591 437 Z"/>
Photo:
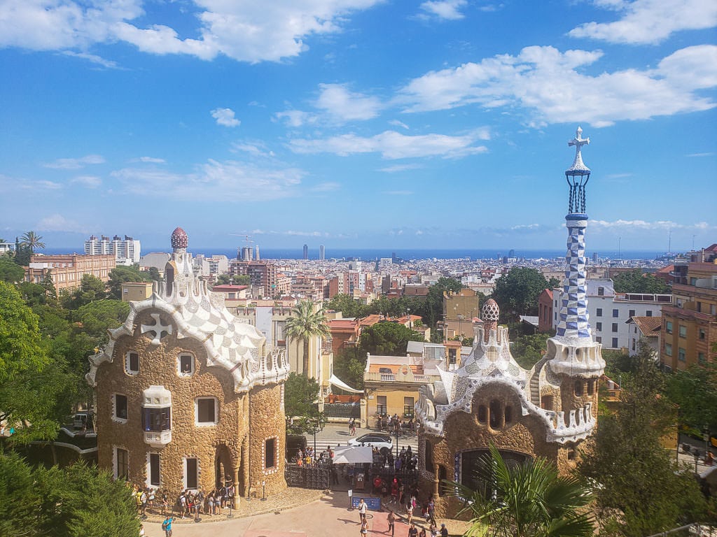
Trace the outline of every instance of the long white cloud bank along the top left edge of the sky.
<path fill-rule="evenodd" d="M 80 50 L 121 41 L 151 54 L 218 54 L 243 62 L 280 61 L 307 49 L 304 39 L 341 32 L 353 11 L 380 0 L 194 0 L 183 5 L 182 37 L 164 24 L 138 22 L 141 0 L 4 0 L 0 47 Z"/>

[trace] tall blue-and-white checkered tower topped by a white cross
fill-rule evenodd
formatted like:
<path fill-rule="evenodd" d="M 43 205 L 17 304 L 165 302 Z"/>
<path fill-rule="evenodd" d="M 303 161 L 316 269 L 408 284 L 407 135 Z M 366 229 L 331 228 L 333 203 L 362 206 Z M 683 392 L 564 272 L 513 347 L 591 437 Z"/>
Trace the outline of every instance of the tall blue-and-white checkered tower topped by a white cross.
<path fill-rule="evenodd" d="M 587 286 L 585 283 L 585 187 L 590 179 L 590 168 L 582 160 L 581 149 L 590 143 L 583 138 L 578 127 L 575 137 L 568 142 L 575 146 L 573 165 L 565 171 L 569 186 L 567 253 L 565 255 L 565 279 L 560 298 L 559 323 L 556 337 L 551 339 L 550 366 L 553 372 L 571 376 L 593 377 L 602 374 L 605 362 L 602 345 L 593 341 L 587 312 Z M 552 351 L 552 352 L 550 352 Z"/>

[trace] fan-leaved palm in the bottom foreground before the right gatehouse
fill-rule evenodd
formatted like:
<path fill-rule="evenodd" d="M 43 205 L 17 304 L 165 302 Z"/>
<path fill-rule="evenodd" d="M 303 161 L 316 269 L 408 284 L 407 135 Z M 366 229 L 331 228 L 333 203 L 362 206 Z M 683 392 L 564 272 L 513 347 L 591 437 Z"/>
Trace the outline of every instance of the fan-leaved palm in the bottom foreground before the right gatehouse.
<path fill-rule="evenodd" d="M 465 537 L 588 537 L 594 533 L 589 488 L 577 478 L 560 476 L 538 458 L 508 466 L 495 446 L 478 461 L 485 490 L 446 482 L 447 493 L 463 500 L 470 513 Z"/>

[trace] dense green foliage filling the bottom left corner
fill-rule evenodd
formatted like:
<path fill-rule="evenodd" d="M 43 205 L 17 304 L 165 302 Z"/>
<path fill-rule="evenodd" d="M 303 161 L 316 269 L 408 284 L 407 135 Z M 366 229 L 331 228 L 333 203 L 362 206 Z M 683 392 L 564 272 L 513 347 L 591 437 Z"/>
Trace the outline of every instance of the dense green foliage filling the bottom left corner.
<path fill-rule="evenodd" d="M 123 481 L 83 463 L 34 468 L 0 455 L 0 535 L 136 537 L 134 498 Z"/>

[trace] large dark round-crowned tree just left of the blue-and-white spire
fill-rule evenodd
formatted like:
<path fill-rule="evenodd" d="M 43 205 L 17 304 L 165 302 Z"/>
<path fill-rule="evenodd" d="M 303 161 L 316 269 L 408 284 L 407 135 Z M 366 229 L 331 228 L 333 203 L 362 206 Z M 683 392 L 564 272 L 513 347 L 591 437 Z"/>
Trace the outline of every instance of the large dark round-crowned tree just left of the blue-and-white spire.
<path fill-rule="evenodd" d="M 557 279 L 546 280 L 538 269 L 513 267 L 495 281 L 492 296 L 500 307 L 501 321 L 517 321 L 520 315 L 538 314 L 538 296 L 544 289 L 558 284 Z"/>

